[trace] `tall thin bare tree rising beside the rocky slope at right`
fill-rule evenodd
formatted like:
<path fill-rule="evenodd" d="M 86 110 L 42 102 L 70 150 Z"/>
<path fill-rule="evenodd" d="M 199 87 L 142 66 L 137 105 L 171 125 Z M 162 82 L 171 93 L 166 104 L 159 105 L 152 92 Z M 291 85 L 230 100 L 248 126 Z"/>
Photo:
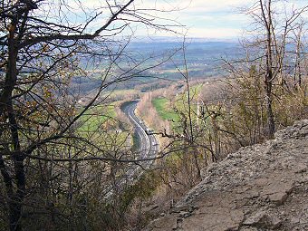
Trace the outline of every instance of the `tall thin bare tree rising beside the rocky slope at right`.
<path fill-rule="evenodd" d="M 259 66 L 260 72 L 263 72 L 264 75 L 266 134 L 268 138 L 273 138 L 275 131 L 273 88 L 276 84 L 283 87 L 287 86 L 286 81 L 290 76 L 288 53 L 290 53 L 290 47 L 292 47 L 290 44 L 294 40 L 292 32 L 295 28 L 300 27 L 299 21 L 303 21 L 302 14 L 308 9 L 308 6 L 303 6 L 300 9 L 292 8 L 290 11 L 286 6 L 281 8 L 281 6 L 275 5 L 277 2 L 259 0 L 246 10 L 246 14 L 253 18 L 252 32 L 255 34 L 253 42 L 245 44 L 246 47 L 253 48 L 249 51 L 248 63 L 255 65 L 258 61 L 260 64 L 255 66 Z M 295 45 L 295 47 L 297 46 Z M 294 51 L 294 53 L 298 52 Z M 298 63 L 295 62 L 295 66 L 296 72 L 298 72 Z"/>

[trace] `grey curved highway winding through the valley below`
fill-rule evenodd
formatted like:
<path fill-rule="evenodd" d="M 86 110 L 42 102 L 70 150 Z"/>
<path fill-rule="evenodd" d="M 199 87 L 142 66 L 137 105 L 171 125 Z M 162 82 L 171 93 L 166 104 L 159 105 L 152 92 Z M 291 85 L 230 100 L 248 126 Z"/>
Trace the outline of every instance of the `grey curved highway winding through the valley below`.
<path fill-rule="evenodd" d="M 155 158 L 159 152 L 159 143 L 155 138 L 155 135 L 151 134 L 149 128 L 140 120 L 136 114 L 135 110 L 138 101 L 130 101 L 125 106 L 122 107 L 122 111 L 130 119 L 131 123 L 135 127 L 136 134 L 139 140 L 139 157 L 136 159 L 149 159 Z M 142 173 L 142 168 L 149 168 L 153 160 L 141 161 L 140 165 L 133 165 L 126 173 L 127 178 L 135 179 L 139 178 Z"/>

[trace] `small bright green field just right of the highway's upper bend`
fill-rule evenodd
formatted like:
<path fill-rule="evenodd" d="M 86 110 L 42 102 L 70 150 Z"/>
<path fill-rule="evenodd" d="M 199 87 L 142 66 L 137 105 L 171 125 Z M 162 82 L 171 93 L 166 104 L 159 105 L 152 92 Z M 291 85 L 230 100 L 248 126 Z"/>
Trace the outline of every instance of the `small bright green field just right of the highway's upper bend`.
<path fill-rule="evenodd" d="M 156 111 L 158 111 L 161 119 L 178 121 L 178 115 L 170 109 L 168 102 L 166 98 L 156 98 L 152 100 L 153 106 Z"/>

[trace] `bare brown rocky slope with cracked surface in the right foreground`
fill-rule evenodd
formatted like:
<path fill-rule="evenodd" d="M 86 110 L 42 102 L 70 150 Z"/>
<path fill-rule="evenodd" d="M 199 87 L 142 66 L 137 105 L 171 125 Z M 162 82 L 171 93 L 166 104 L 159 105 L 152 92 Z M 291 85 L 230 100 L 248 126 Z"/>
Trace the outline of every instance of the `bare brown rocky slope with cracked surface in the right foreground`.
<path fill-rule="evenodd" d="M 308 230 L 308 120 L 239 149 L 203 173 L 144 230 Z"/>

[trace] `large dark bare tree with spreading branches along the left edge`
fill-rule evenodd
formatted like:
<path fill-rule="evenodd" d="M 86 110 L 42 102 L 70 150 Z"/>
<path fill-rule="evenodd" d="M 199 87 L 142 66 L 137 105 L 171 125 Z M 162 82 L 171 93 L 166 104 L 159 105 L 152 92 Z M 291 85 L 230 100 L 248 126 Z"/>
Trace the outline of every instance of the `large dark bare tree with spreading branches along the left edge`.
<path fill-rule="evenodd" d="M 106 0 L 92 7 L 66 0 L 0 3 L 0 169 L 10 230 L 23 229 L 24 201 L 35 200 L 38 181 L 32 172 L 49 184 L 67 169 L 63 184 L 72 204 L 76 169 L 82 168 L 79 177 L 89 176 L 88 167 L 73 163 L 122 158 L 115 154 L 118 149 L 104 149 L 97 137 L 77 131 L 85 112 L 104 101 L 103 91 L 149 69 L 124 53 L 130 39 L 120 35 L 131 34 L 133 24 L 168 30 L 155 23 L 153 11 L 159 10 L 139 7 L 134 0 Z M 87 78 L 98 68 L 95 78 Z M 84 97 L 78 83 L 89 79 L 97 82 L 96 90 Z M 54 192 L 53 187 L 47 188 Z"/>

